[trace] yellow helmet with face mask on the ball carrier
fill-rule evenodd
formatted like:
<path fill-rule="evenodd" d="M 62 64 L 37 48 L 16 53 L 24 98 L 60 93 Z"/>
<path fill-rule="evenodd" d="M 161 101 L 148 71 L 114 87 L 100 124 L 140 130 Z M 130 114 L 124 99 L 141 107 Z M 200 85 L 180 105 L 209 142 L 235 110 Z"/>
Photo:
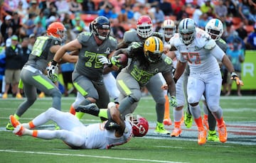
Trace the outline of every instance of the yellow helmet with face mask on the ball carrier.
<path fill-rule="evenodd" d="M 160 38 L 151 36 L 145 40 L 144 55 L 149 62 L 158 62 L 163 52 L 164 44 Z"/>

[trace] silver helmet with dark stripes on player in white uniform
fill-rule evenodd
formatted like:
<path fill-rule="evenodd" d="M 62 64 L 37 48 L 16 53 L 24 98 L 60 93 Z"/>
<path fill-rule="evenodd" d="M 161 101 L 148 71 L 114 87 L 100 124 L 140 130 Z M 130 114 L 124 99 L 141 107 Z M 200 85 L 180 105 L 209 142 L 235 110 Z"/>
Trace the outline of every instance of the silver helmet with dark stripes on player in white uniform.
<path fill-rule="evenodd" d="M 179 38 L 185 45 L 189 45 L 196 38 L 196 23 L 191 18 L 184 18 L 178 24 Z"/>

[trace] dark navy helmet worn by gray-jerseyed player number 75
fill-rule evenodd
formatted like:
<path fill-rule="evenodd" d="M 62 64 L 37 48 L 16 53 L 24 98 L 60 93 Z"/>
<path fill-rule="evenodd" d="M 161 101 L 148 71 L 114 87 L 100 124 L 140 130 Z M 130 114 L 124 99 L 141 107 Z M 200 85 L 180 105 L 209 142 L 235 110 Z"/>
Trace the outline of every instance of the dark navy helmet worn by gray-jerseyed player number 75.
<path fill-rule="evenodd" d="M 110 21 L 105 16 L 98 16 L 91 23 L 92 33 L 100 40 L 106 40 L 110 35 Z"/>

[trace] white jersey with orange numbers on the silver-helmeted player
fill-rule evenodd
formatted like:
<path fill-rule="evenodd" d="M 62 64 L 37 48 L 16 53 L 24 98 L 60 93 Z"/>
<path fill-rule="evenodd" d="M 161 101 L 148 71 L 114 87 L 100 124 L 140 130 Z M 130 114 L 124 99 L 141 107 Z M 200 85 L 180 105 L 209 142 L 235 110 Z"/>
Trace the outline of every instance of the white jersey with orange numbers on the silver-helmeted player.
<path fill-rule="evenodd" d="M 225 52 L 215 44 L 215 41 L 211 41 L 206 31 L 196 28 L 196 38 L 190 45 L 184 45 L 178 33 L 171 38 L 169 43 L 178 50 L 177 59 L 181 62 L 188 62 L 191 74 L 209 74 L 220 71 L 218 61 L 223 59 Z"/>

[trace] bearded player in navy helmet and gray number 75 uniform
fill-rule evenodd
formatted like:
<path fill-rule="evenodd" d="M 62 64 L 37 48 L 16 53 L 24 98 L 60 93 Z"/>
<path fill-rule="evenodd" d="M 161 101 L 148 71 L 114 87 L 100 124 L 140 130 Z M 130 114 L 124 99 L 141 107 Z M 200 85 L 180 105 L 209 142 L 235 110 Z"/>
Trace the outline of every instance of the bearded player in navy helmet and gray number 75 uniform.
<path fill-rule="evenodd" d="M 107 108 L 110 96 L 103 81 L 104 68 L 118 69 L 110 62 L 110 55 L 117 48 L 117 40 L 110 36 L 110 20 L 105 16 L 98 16 L 91 23 L 92 33 L 82 32 L 78 38 L 56 52 L 53 58 L 53 69 L 65 52 L 79 50 L 79 58 L 73 72 L 73 84 L 85 97 L 80 103 L 86 106 L 97 103 L 99 108 Z M 79 119 L 84 113 L 75 114 Z"/>

